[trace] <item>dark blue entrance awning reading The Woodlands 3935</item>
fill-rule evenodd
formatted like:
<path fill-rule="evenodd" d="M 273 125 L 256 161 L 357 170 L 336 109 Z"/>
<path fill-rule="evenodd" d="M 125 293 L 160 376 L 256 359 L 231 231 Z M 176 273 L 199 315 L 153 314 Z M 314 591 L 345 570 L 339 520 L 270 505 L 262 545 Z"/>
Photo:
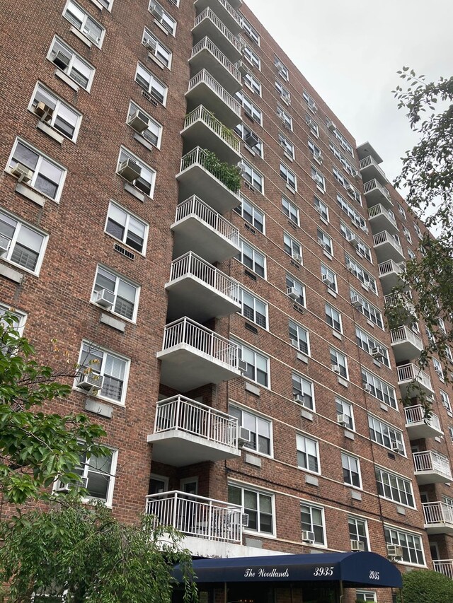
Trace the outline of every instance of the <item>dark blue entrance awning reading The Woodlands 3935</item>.
<path fill-rule="evenodd" d="M 273 555 L 193 561 L 196 582 L 343 581 L 346 587 L 400 588 L 401 573 L 376 553 Z M 175 568 L 175 578 L 181 575 Z"/>

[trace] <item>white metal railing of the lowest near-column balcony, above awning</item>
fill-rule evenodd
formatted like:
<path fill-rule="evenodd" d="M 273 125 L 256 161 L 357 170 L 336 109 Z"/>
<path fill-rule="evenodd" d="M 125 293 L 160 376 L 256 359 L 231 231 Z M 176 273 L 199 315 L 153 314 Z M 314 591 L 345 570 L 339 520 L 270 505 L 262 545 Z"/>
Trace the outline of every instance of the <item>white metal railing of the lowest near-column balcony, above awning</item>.
<path fill-rule="evenodd" d="M 178 490 L 147 496 L 146 513 L 156 524 L 171 525 L 188 536 L 223 542 L 242 542 L 239 505 Z"/>

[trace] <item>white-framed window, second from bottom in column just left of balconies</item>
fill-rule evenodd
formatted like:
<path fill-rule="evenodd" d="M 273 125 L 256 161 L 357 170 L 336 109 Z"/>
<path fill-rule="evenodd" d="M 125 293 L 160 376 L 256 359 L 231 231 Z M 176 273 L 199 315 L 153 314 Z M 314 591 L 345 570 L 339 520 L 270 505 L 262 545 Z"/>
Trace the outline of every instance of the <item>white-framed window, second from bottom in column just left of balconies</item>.
<path fill-rule="evenodd" d="M 103 377 L 98 397 L 125 404 L 130 360 L 124 356 L 83 341 L 79 356 L 81 370 Z M 77 386 L 77 382 L 75 383 Z"/>

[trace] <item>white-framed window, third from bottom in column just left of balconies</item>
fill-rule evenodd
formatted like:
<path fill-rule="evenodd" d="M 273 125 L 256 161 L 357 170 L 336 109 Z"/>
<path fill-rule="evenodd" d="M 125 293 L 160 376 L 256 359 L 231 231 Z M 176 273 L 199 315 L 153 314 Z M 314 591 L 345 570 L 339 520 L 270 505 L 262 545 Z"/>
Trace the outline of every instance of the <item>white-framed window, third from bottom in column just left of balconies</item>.
<path fill-rule="evenodd" d="M 96 278 L 94 279 L 93 293 L 91 294 L 91 301 L 93 303 L 96 303 L 96 293 L 103 289 L 114 295 L 111 311 L 128 320 L 135 321 L 137 317 L 139 287 L 113 274 L 110 270 L 98 266 Z"/>

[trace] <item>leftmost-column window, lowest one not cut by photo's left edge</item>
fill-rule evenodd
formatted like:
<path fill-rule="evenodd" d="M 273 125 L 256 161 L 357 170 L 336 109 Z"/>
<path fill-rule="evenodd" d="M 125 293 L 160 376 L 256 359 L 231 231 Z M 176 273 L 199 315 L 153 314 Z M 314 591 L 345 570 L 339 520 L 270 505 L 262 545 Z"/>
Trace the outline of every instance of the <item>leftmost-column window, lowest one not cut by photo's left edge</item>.
<path fill-rule="evenodd" d="M 45 156 L 34 146 L 16 139 L 8 161 L 8 171 L 11 172 L 18 163 L 32 172 L 30 180 L 27 182 L 28 186 L 36 189 L 45 197 L 59 201 L 66 177 L 66 170 L 61 165 Z"/>

